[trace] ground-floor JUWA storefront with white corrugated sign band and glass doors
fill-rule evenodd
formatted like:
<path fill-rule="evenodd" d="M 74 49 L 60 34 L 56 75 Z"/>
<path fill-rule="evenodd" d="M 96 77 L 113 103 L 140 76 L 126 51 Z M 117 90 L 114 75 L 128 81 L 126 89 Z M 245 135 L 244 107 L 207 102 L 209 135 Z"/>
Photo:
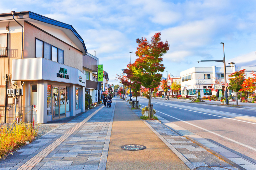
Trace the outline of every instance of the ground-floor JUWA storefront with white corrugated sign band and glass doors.
<path fill-rule="evenodd" d="M 14 59 L 13 66 L 13 80 L 25 81 L 23 105 L 37 106 L 38 123 L 84 112 L 86 81 L 79 69 L 45 58 Z"/>

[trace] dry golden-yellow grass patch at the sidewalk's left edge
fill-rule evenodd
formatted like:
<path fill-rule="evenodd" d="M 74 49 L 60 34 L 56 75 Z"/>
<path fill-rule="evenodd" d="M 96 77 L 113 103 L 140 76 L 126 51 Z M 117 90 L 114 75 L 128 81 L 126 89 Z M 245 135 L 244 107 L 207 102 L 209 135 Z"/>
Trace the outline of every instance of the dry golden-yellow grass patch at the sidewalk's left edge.
<path fill-rule="evenodd" d="M 38 128 L 32 130 L 31 124 L 13 123 L 11 126 L 0 128 L 0 159 L 14 149 L 32 141 L 37 135 Z"/>

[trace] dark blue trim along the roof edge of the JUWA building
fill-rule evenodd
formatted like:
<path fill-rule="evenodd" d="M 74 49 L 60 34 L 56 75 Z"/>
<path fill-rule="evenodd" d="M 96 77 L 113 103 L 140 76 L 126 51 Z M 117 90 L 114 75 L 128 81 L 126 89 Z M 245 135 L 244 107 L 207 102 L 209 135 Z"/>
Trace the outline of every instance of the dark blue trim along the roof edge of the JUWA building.
<path fill-rule="evenodd" d="M 85 44 L 84 44 L 84 40 L 76 32 L 76 30 L 72 27 L 72 25 L 65 24 L 65 23 L 62 23 L 60 21 L 48 18 L 48 17 L 44 17 L 42 15 L 36 14 L 34 12 L 31 12 L 31 11 L 15 12 L 15 15 L 27 15 L 27 14 L 29 15 L 29 18 L 31 18 L 31 19 L 34 19 L 34 20 L 37 20 L 37 21 L 41 21 L 41 22 L 44 22 L 44 23 L 48 23 L 48 24 L 51 24 L 51 25 L 55 25 L 55 26 L 58 26 L 58 27 L 62 27 L 62 28 L 66 28 L 66 29 L 71 30 L 74 33 L 74 35 L 78 38 L 78 40 L 83 44 L 85 52 L 88 53 L 87 49 L 85 47 Z M 0 17 L 9 16 L 9 15 L 12 15 L 12 14 L 11 13 L 0 14 Z"/>

